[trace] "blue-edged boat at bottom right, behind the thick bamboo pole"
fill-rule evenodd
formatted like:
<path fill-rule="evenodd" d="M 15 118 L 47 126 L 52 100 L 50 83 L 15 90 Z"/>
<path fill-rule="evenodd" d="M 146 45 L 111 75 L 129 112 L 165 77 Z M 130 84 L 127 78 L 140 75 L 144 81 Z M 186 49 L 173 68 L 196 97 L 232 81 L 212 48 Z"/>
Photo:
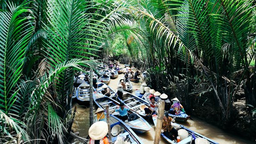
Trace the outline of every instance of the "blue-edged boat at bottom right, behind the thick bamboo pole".
<path fill-rule="evenodd" d="M 152 119 L 153 119 L 153 122 L 154 122 L 154 125 L 156 126 L 156 121 L 157 121 L 157 115 L 152 115 Z M 192 140 L 192 133 L 194 131 L 188 129 L 188 128 L 185 128 L 183 125 L 180 125 L 180 124 L 176 124 L 176 123 L 172 123 L 172 126 L 173 128 L 175 128 L 176 130 L 179 130 L 179 129 L 185 129 L 187 132 L 188 132 L 188 137 L 184 140 L 181 140 L 179 143 L 177 143 L 176 141 L 172 141 L 170 139 L 168 139 L 163 133 L 161 133 L 161 136 L 164 138 L 164 140 L 166 140 L 169 144 L 191 144 L 191 140 Z M 216 143 L 215 141 L 205 137 L 205 136 L 202 136 L 200 135 L 199 133 L 197 132 L 194 132 L 196 138 L 200 137 L 200 138 L 204 138 L 206 140 L 209 141 L 210 144 L 218 144 Z"/>

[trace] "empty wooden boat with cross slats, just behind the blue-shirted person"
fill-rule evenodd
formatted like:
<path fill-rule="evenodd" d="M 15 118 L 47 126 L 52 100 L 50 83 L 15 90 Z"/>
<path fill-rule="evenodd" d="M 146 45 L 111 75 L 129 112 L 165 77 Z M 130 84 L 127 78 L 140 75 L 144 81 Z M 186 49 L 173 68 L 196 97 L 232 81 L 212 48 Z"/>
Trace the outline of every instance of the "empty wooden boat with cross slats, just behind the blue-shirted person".
<path fill-rule="evenodd" d="M 117 97 L 117 100 L 120 102 L 123 102 L 126 106 L 134 109 L 135 111 L 138 111 L 140 116 L 145 115 L 144 109 L 140 109 L 141 106 L 148 105 L 148 102 L 146 100 L 141 99 L 140 97 L 134 96 L 133 94 L 129 92 L 123 93 L 123 98 Z M 148 120 L 148 116 L 145 116 L 145 119 Z"/>

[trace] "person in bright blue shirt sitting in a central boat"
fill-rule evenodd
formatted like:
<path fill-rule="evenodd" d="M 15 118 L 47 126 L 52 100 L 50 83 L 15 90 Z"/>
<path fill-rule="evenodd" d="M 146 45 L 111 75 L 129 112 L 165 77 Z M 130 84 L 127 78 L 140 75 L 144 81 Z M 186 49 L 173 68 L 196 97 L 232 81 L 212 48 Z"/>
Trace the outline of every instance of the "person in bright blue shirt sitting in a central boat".
<path fill-rule="evenodd" d="M 117 105 L 117 108 L 115 109 L 115 112 L 119 112 L 119 115 L 114 116 L 123 121 L 128 120 L 128 111 L 136 112 L 135 110 L 124 106 L 124 103 L 120 103 L 120 106 Z"/>

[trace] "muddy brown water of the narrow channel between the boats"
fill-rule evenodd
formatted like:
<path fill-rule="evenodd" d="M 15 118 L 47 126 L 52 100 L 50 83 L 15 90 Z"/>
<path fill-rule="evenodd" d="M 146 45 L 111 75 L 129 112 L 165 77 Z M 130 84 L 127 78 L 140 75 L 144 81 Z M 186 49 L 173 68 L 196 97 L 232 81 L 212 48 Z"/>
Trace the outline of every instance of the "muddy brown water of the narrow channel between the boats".
<path fill-rule="evenodd" d="M 124 75 L 119 75 L 116 79 L 112 79 L 109 82 L 109 86 L 114 90 L 117 87 L 118 81 Z M 133 94 L 135 94 L 135 90 L 140 88 L 142 84 L 142 80 L 139 83 L 132 83 L 133 86 Z M 74 132 L 79 132 L 79 136 L 86 138 L 88 136 L 89 130 L 89 105 L 79 105 L 74 102 L 73 107 L 77 106 L 77 113 L 75 117 L 75 122 L 73 123 L 72 129 Z M 185 108 L 186 109 L 186 108 Z M 224 130 L 217 128 L 211 124 L 208 124 L 202 120 L 199 120 L 196 117 L 192 118 L 193 120 L 188 120 L 187 122 L 181 123 L 177 122 L 178 124 L 182 124 L 187 128 L 200 133 L 203 136 L 206 136 L 220 144 L 255 144 L 252 141 L 245 140 L 239 136 L 232 135 Z M 137 134 L 140 139 L 144 142 L 144 144 L 153 144 L 154 136 L 155 136 L 155 126 L 153 123 L 149 123 L 152 126 L 152 130 L 143 134 Z M 160 139 L 160 144 L 166 144 L 167 142 L 164 141 L 162 138 Z"/>

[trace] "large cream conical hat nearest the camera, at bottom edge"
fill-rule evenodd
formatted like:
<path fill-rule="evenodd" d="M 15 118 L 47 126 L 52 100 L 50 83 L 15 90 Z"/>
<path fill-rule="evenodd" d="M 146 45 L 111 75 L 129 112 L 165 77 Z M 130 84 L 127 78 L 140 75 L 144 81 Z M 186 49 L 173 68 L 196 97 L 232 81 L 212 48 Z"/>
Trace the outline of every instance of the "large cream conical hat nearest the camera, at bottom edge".
<path fill-rule="evenodd" d="M 88 133 L 92 140 L 101 140 L 108 133 L 108 124 L 104 121 L 97 121 L 92 124 Z"/>

